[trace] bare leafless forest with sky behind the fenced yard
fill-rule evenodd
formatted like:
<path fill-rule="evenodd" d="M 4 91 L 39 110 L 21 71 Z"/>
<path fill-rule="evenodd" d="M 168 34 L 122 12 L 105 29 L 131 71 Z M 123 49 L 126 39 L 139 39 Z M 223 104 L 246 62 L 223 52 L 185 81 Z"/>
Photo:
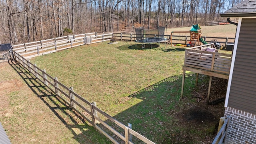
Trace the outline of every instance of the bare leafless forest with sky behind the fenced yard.
<path fill-rule="evenodd" d="M 241 0 L 0 0 L 0 44 L 226 20 Z"/>

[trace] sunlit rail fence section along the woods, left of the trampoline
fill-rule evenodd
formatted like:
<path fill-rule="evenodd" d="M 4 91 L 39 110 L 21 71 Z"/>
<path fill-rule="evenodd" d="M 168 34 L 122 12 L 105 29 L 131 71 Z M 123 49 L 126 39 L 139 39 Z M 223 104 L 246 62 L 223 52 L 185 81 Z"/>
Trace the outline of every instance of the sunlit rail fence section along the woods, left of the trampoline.
<path fill-rule="evenodd" d="M 84 44 L 93 44 L 96 42 L 103 42 L 110 40 L 112 33 L 97 35 L 97 32 L 88 34 L 78 34 L 73 36 L 62 36 L 48 40 L 40 40 L 36 42 L 29 42 L 24 44 L 17 44 L 12 46 L 13 50 L 24 56 L 26 59 L 50 54 L 60 50 L 81 46 Z"/>

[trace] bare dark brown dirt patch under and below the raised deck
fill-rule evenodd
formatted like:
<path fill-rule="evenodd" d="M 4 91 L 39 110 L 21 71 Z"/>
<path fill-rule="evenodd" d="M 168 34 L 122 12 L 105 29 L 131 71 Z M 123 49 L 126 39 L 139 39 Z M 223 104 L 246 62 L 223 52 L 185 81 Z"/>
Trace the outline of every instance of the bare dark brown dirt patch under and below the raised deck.
<path fill-rule="evenodd" d="M 220 117 L 224 115 L 224 100 L 216 102 L 215 105 L 206 104 L 208 82 L 202 82 L 194 88 L 192 98 L 196 101 L 193 104 L 186 104 L 184 108 L 176 114 L 176 117 L 187 129 L 187 137 L 203 139 L 202 144 L 210 144 L 217 134 Z M 210 102 L 224 98 L 226 96 L 227 80 L 213 78 L 210 93 Z M 196 130 L 191 132 L 190 130 Z M 207 136 L 202 137 L 204 133 Z"/>

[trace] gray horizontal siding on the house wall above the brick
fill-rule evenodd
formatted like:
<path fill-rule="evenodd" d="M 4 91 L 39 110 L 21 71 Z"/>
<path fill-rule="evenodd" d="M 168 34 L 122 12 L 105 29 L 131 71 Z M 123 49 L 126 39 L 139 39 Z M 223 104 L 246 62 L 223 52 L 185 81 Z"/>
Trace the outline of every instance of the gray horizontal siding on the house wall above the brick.
<path fill-rule="evenodd" d="M 256 19 L 242 19 L 228 106 L 256 114 Z"/>

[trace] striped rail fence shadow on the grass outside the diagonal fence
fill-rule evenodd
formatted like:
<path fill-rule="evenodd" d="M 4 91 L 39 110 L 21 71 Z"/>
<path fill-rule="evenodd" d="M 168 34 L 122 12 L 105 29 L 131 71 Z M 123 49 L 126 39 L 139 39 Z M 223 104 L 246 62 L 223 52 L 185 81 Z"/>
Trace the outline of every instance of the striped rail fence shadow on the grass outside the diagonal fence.
<path fill-rule="evenodd" d="M 103 134 L 98 132 L 93 126 L 88 125 L 85 120 L 68 107 L 58 96 L 54 95 L 46 86 L 38 82 L 30 72 L 21 67 L 20 64 L 9 60 L 8 63 L 20 75 L 28 87 L 50 108 L 50 110 L 60 119 L 60 121 L 72 132 L 74 139 L 81 144 L 111 143 Z M 80 134 L 76 134 L 73 129 L 79 129 Z M 77 130 L 76 130 L 77 131 Z"/>

